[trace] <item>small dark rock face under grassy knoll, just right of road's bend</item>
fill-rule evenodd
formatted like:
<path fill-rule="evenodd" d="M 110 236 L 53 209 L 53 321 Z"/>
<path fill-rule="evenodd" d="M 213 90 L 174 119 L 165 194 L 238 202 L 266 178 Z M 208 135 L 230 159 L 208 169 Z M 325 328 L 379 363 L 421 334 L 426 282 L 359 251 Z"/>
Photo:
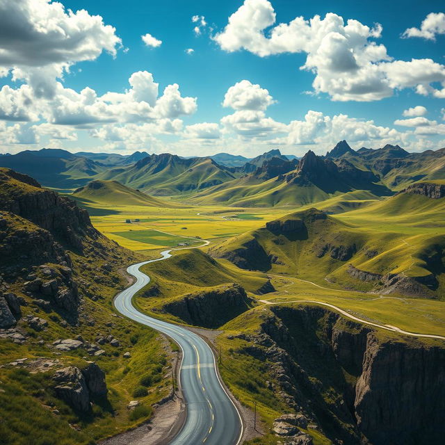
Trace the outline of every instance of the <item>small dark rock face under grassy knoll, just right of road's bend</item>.
<path fill-rule="evenodd" d="M 238 284 L 189 293 L 164 305 L 165 312 L 189 325 L 216 328 L 252 307 L 252 300 Z"/>

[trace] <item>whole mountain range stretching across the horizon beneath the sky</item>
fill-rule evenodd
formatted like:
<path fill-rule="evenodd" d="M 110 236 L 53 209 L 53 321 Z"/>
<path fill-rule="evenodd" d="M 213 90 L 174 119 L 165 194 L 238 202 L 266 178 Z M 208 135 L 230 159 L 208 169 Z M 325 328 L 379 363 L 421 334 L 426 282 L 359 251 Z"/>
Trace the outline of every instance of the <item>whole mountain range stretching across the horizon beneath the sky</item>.
<path fill-rule="evenodd" d="M 342 140 L 325 156 L 309 150 L 302 159 L 278 149 L 252 159 L 227 153 L 184 158 L 168 153 L 122 156 L 40 149 L 1 156 L 0 167 L 65 192 L 104 180 L 195 204 L 295 206 L 357 191 L 380 197 L 417 181 L 444 179 L 445 148 L 410 153 L 399 145 L 385 145 L 356 151 Z"/>

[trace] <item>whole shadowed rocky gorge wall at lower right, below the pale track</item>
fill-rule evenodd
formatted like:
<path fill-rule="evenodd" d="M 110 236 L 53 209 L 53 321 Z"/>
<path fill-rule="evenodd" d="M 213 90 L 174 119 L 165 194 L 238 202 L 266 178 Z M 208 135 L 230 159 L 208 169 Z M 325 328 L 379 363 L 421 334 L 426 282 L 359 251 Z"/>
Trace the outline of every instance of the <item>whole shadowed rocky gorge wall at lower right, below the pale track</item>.
<path fill-rule="evenodd" d="M 270 389 L 337 444 L 430 445 L 445 434 L 442 343 L 383 335 L 321 307 L 277 306 L 242 352 Z"/>

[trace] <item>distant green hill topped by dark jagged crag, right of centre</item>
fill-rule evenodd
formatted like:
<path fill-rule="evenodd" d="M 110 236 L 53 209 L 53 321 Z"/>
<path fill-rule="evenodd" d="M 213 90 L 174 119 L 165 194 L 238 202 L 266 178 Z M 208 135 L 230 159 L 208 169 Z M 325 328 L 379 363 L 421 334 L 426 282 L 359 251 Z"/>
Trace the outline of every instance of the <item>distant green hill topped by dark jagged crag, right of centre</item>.
<path fill-rule="evenodd" d="M 254 174 L 197 193 L 191 201 L 224 202 L 234 207 L 296 207 L 358 190 L 374 197 L 390 195 L 389 188 L 378 181 L 372 172 L 356 168 L 346 160 L 334 163 L 309 151 L 298 163 L 275 158 L 266 161 Z"/>

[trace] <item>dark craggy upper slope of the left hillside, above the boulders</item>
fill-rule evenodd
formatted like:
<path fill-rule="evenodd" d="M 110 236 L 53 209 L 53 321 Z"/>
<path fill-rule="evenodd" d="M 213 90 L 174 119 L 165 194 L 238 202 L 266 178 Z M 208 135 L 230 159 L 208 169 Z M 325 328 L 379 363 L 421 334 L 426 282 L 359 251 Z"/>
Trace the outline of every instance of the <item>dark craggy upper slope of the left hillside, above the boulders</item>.
<path fill-rule="evenodd" d="M 99 275 L 102 280 L 110 275 L 111 264 L 120 267 L 125 254 L 92 227 L 88 213 L 74 201 L 45 190 L 31 177 L 0 169 L 0 277 L 6 289 L 13 286 L 27 302 L 46 312 L 54 309 L 74 323 L 82 294 L 92 295 L 72 258 L 109 261 L 98 281 Z M 14 310 L 14 320 L 10 318 L 6 303 L 0 309 L 4 327 L 20 318 Z"/>

